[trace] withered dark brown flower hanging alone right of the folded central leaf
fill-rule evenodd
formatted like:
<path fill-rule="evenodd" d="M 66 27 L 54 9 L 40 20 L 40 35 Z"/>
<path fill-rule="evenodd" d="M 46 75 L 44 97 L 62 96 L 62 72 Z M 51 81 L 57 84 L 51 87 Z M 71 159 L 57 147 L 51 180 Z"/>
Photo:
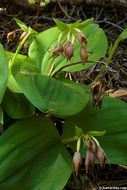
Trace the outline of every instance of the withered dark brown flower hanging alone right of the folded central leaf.
<path fill-rule="evenodd" d="M 96 107 L 99 107 L 99 109 L 101 109 L 104 93 L 105 93 L 105 81 L 103 79 L 94 81 L 91 86 L 91 92 L 90 92 L 93 107 L 95 107 L 96 105 Z"/>

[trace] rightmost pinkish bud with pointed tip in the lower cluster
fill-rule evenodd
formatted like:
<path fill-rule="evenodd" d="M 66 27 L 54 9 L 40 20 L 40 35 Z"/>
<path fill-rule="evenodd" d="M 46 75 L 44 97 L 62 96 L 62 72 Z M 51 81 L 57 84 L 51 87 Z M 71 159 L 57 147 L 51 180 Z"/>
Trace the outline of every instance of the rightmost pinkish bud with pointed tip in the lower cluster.
<path fill-rule="evenodd" d="M 105 166 L 105 160 L 108 160 L 108 159 L 105 155 L 104 150 L 100 146 L 96 149 L 96 157 L 99 160 L 101 168 L 104 167 Z"/>

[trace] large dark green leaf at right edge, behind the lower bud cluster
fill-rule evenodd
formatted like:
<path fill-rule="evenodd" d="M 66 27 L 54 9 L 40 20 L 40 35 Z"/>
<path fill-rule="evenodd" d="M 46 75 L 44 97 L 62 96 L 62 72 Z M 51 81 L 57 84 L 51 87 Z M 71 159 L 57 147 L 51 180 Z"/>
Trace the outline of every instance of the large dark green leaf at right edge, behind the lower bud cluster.
<path fill-rule="evenodd" d="M 75 117 L 66 120 L 63 126 L 63 138 L 75 136 L 75 125 L 88 131 L 104 131 L 104 136 L 97 137 L 106 152 L 109 161 L 127 165 L 127 104 L 121 100 L 105 97 L 102 110 L 93 109 L 89 102 L 85 109 Z M 84 156 L 84 155 L 83 155 Z"/>

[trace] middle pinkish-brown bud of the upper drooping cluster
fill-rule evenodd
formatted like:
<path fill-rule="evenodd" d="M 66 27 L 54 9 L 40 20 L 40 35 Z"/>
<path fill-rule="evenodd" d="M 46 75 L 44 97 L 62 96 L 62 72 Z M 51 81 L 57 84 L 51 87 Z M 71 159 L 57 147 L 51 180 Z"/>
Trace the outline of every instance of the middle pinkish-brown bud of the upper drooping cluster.
<path fill-rule="evenodd" d="M 67 58 L 68 60 L 71 60 L 71 58 L 74 56 L 74 47 L 73 44 L 71 42 L 66 42 L 64 45 L 64 56 Z"/>

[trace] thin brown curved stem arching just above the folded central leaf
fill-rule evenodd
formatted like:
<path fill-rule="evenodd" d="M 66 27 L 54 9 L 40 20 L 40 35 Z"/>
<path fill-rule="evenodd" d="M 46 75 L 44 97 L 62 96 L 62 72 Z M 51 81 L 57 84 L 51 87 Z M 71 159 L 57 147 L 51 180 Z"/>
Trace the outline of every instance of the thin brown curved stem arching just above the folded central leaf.
<path fill-rule="evenodd" d="M 104 61 L 87 61 L 86 63 L 103 63 L 105 66 L 107 66 L 107 64 L 104 62 Z M 55 77 L 58 73 L 60 73 L 60 71 L 62 71 L 63 69 L 65 69 L 66 67 L 70 67 L 72 65 L 78 65 L 78 64 L 81 64 L 82 62 L 79 61 L 79 62 L 75 62 L 75 63 L 69 63 L 67 65 L 64 65 L 62 66 L 61 68 L 59 68 L 53 75 L 52 75 L 52 78 Z"/>

